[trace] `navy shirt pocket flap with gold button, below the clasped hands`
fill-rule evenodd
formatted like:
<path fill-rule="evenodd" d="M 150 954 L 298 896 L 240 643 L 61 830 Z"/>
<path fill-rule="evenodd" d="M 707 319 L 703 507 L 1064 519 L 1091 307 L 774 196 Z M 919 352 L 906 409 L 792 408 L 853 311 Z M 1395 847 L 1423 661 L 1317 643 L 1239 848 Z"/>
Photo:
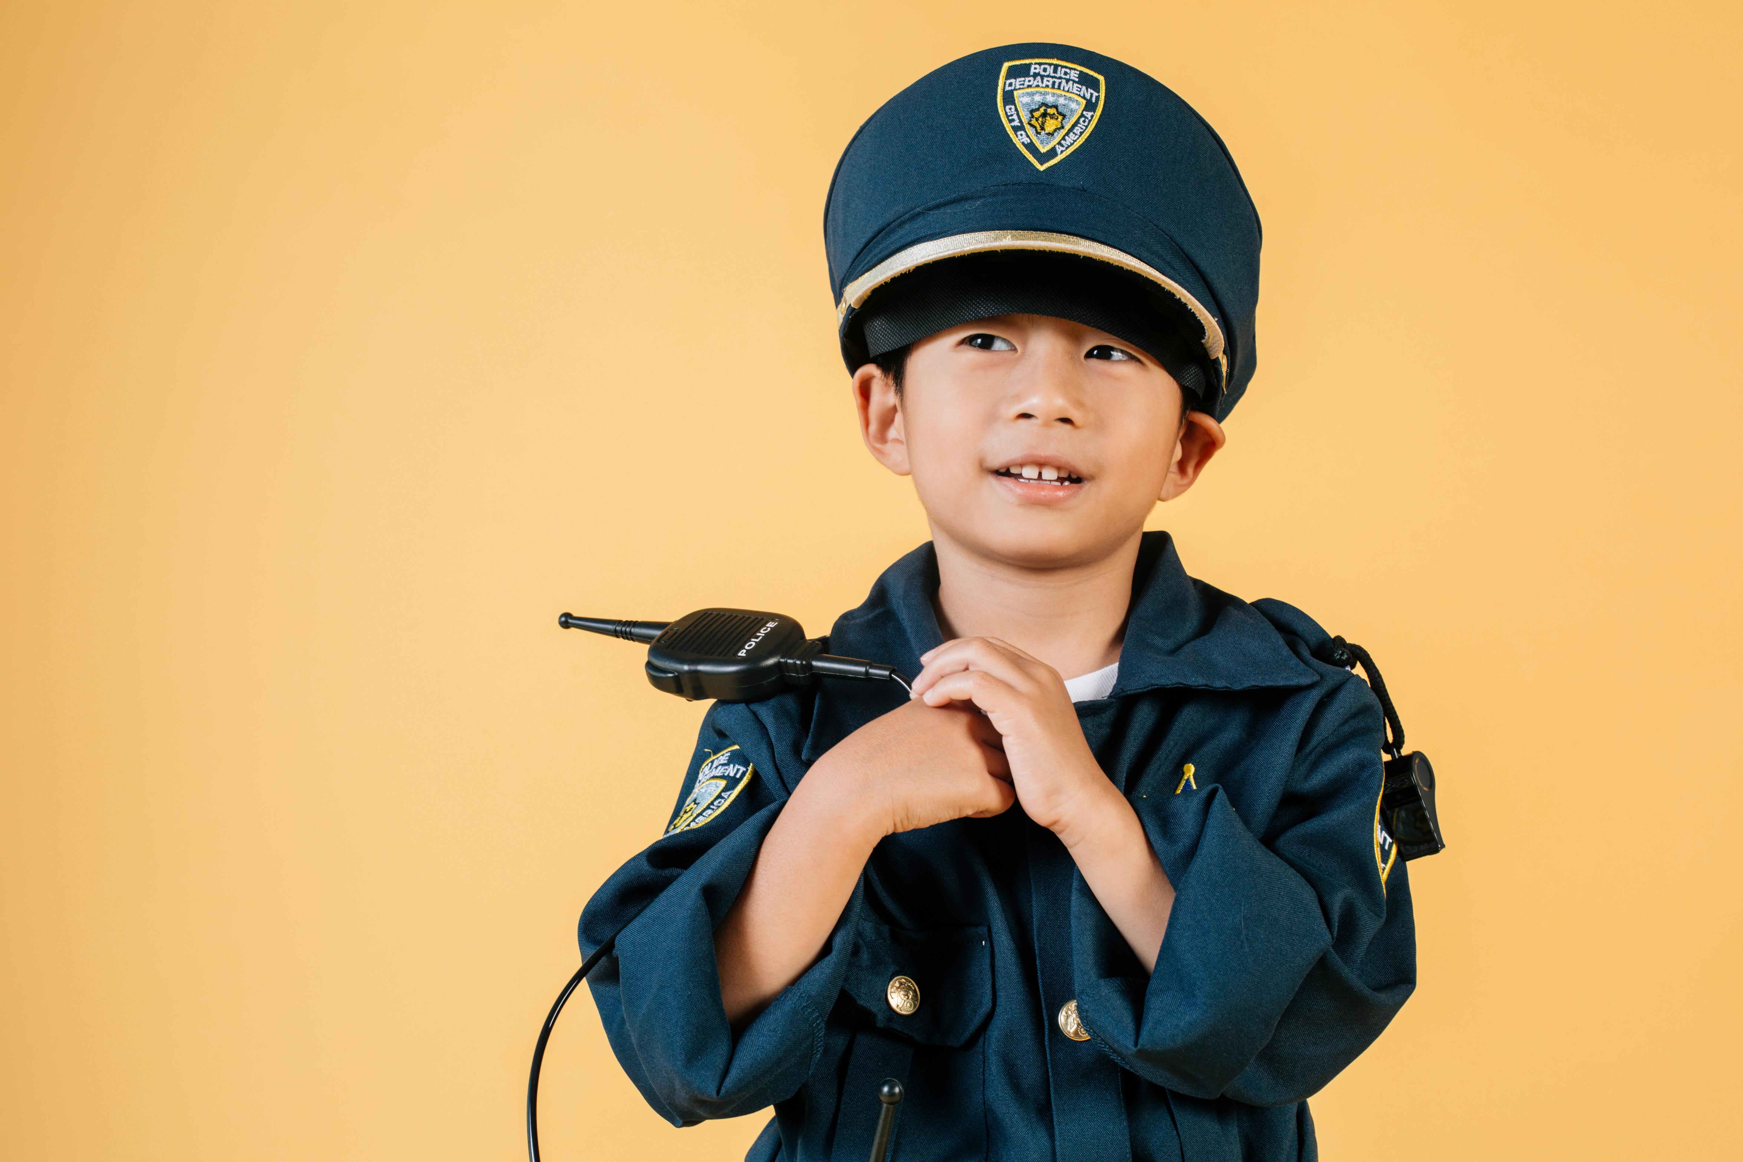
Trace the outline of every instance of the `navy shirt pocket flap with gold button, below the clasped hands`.
<path fill-rule="evenodd" d="M 861 923 L 844 990 L 872 1021 L 922 1045 L 967 1045 L 992 1014 L 985 927 Z"/>

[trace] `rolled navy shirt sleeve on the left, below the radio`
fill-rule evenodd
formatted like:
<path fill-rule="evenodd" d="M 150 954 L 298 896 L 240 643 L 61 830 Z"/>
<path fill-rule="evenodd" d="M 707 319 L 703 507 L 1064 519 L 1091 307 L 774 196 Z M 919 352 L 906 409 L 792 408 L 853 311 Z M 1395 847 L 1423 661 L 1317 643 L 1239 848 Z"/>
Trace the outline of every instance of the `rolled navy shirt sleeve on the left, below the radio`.
<path fill-rule="evenodd" d="M 831 937 L 819 962 L 737 1037 L 715 965 L 715 927 L 802 772 L 797 742 L 783 747 L 772 735 L 797 733 L 770 732 L 744 706 L 709 709 L 666 833 L 612 875 L 580 916 L 582 953 L 627 925 L 587 984 L 624 1071 L 675 1125 L 793 1096 L 823 1051 L 851 941 Z"/>

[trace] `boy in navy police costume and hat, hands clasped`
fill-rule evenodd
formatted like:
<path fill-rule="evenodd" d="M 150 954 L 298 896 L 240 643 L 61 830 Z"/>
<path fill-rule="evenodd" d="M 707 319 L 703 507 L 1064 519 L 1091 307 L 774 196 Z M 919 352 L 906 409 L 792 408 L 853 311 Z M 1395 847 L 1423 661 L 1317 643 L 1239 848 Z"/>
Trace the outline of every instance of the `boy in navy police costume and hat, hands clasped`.
<path fill-rule="evenodd" d="M 933 530 L 828 648 L 919 678 L 709 711 L 683 796 L 730 800 L 582 915 L 645 908 L 591 979 L 619 1059 L 675 1124 L 774 1105 L 758 1160 L 858 1162 L 885 1077 L 901 1162 L 1312 1159 L 1414 929 L 1367 685 L 1143 533 L 1253 373 L 1227 150 L 1117 61 L 994 49 L 861 127 L 824 232 Z"/>

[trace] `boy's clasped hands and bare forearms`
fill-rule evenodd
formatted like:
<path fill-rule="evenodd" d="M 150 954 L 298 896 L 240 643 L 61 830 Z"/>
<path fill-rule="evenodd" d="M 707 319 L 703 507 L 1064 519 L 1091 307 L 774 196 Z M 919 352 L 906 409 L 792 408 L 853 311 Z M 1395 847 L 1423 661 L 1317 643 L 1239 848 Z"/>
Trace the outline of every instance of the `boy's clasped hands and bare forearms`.
<path fill-rule="evenodd" d="M 1072 854 L 1143 970 L 1156 965 L 1175 892 L 1058 672 L 992 638 L 946 641 L 922 662 L 913 700 L 830 747 L 769 829 L 715 934 L 729 1021 L 816 962 L 884 836 L 1016 801 Z"/>

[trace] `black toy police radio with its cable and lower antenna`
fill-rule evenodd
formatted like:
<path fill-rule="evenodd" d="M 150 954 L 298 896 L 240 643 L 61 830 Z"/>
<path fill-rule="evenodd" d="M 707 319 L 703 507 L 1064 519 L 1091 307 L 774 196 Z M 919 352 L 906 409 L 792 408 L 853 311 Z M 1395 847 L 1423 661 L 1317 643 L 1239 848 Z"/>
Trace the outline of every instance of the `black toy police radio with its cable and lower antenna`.
<path fill-rule="evenodd" d="M 805 638 L 800 624 L 784 613 L 715 608 L 685 613 L 676 622 L 619 622 L 605 617 L 561 613 L 556 624 L 563 629 L 586 629 L 647 645 L 647 674 L 654 688 L 692 700 L 756 702 L 783 690 L 805 686 L 819 676 L 894 681 L 908 690 L 908 681 L 896 672 L 894 665 L 824 653 L 823 643 L 816 638 Z M 627 922 L 624 927 L 629 927 Z M 539 1162 L 539 1071 L 544 1066 L 551 1028 L 570 995 L 593 972 L 593 965 L 600 963 L 617 944 L 622 929 L 587 953 L 580 969 L 558 993 L 544 1028 L 539 1030 L 533 1068 L 526 1078 L 526 1157 L 530 1162 Z M 901 1082 L 894 1078 L 885 1080 L 878 1091 L 882 1110 L 872 1145 L 875 1162 L 884 1162 L 889 1153 L 901 1092 Z"/>

